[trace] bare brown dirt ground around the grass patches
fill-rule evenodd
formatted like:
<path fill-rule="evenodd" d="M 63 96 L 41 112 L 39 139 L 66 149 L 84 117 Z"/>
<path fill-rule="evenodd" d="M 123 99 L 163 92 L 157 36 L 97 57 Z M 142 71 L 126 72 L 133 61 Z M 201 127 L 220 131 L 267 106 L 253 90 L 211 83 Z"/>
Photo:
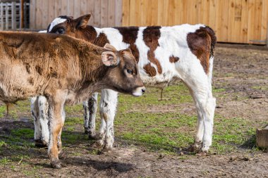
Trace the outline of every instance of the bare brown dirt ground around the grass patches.
<path fill-rule="evenodd" d="M 267 122 L 268 49 L 217 44 L 213 86 L 224 89 L 224 96 L 217 97 L 216 115 L 242 117 L 256 125 Z M 195 108 L 185 103 L 178 104 L 177 110 L 195 114 Z M 27 119 L 0 119 L 2 136 L 18 127 L 33 128 L 33 124 Z M 113 151 L 99 155 L 90 152 L 85 139 L 64 150 L 61 170 L 50 168 L 46 149 L 28 148 L 16 153 L 2 149 L 0 158 L 15 154 L 31 156 L 18 159 L 16 165 L 0 164 L 0 177 L 268 177 L 268 153 L 243 147 L 206 156 L 183 151 L 163 154 L 116 139 Z"/>

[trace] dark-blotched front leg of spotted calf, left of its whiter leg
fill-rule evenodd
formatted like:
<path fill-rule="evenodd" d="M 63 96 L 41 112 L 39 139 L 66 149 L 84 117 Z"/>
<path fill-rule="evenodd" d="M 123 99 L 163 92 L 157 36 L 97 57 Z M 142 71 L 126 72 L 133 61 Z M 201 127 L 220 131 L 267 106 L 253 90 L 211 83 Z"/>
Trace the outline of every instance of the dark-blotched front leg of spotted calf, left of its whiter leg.
<path fill-rule="evenodd" d="M 94 139 L 96 136 L 95 118 L 97 113 L 97 96 L 98 93 L 96 92 L 88 101 L 83 102 L 83 108 L 85 110 L 85 134 L 88 134 L 90 139 Z"/>

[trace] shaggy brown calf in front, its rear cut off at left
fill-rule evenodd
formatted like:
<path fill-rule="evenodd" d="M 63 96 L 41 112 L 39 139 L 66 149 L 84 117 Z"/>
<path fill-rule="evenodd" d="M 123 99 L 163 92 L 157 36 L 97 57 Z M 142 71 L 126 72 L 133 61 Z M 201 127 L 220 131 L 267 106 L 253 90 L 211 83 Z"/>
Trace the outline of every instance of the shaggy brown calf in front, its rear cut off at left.
<path fill-rule="evenodd" d="M 132 72 L 129 72 L 129 71 Z M 59 168 L 63 105 L 85 101 L 99 89 L 140 96 L 145 90 L 129 49 L 116 51 L 67 35 L 0 32 L 0 100 L 47 98 L 49 158 Z M 60 142 L 60 144 L 58 144 Z"/>

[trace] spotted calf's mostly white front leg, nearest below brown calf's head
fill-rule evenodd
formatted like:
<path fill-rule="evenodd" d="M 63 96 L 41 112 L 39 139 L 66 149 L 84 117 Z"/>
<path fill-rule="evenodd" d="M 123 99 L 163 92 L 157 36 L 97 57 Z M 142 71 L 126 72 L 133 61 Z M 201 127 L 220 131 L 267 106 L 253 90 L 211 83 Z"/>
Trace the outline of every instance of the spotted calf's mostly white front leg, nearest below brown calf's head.
<path fill-rule="evenodd" d="M 114 116 L 116 114 L 117 95 L 118 92 L 111 89 L 102 90 L 99 110 L 102 125 L 99 132 L 98 143 L 108 149 L 112 148 L 114 144 Z"/>

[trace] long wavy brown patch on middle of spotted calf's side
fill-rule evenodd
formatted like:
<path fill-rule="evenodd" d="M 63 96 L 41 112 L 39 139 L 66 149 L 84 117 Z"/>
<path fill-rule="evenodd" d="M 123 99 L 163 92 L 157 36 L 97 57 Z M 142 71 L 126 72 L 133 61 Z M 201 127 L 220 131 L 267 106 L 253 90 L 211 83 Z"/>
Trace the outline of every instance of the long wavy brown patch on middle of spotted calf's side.
<path fill-rule="evenodd" d="M 160 37 L 160 28 L 160 26 L 145 28 L 143 31 L 143 40 L 145 41 L 145 44 L 150 48 L 150 51 L 148 51 L 149 61 L 157 65 L 157 72 L 159 72 L 159 74 L 162 74 L 162 67 L 157 58 L 154 57 L 154 51 L 157 49 L 157 46 L 159 46 L 158 39 Z"/>

